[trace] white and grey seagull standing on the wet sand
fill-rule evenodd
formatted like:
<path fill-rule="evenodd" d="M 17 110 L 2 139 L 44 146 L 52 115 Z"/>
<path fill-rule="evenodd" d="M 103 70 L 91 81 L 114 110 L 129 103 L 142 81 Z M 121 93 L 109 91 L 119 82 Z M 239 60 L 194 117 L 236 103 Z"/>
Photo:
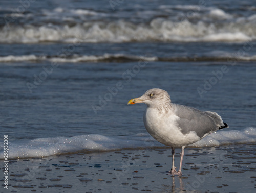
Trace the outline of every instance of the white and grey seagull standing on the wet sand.
<path fill-rule="evenodd" d="M 153 88 L 142 96 L 131 99 L 128 105 L 145 103 L 143 121 L 148 133 L 157 141 L 172 148 L 173 165 L 169 171 L 181 176 L 184 148 L 219 129 L 228 128 L 216 112 L 200 111 L 193 107 L 171 103 L 165 90 Z M 180 167 L 174 166 L 175 148 L 181 148 Z"/>

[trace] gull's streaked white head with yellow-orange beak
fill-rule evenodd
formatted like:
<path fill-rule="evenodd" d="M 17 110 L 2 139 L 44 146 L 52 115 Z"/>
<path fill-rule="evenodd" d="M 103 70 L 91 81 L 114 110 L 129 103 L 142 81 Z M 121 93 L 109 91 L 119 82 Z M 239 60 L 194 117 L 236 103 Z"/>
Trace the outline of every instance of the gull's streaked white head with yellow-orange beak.
<path fill-rule="evenodd" d="M 142 96 L 131 99 L 128 105 L 136 103 L 145 103 L 148 107 L 161 107 L 162 105 L 170 104 L 170 95 L 165 90 L 152 88 L 147 90 Z"/>

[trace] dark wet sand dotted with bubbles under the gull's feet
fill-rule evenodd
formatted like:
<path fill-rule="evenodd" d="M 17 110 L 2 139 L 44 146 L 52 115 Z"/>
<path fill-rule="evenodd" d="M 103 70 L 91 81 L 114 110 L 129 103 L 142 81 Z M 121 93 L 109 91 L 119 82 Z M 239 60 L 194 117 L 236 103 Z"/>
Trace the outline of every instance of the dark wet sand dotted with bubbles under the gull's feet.
<path fill-rule="evenodd" d="M 0 192 L 255 192 L 255 150 L 256 144 L 186 148 L 181 177 L 166 173 L 169 148 L 10 159 L 9 189 Z"/>

